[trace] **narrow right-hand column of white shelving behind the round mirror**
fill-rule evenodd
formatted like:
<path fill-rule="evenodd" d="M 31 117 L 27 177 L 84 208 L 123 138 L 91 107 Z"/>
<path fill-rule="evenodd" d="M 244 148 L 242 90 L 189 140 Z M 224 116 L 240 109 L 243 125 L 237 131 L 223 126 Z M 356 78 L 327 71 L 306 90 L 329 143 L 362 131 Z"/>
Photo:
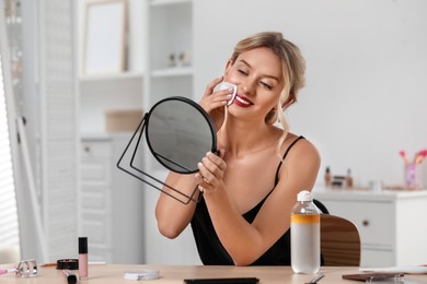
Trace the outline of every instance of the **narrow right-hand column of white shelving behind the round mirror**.
<path fill-rule="evenodd" d="M 192 62 L 170 66 L 170 56 L 193 55 L 193 1 L 153 0 L 147 8 L 147 50 L 143 105 L 147 110 L 159 100 L 170 96 L 194 98 L 194 72 Z M 146 171 L 157 178 L 164 178 L 168 171 L 147 152 Z M 146 262 L 164 264 L 200 264 L 191 228 L 187 227 L 176 239 L 160 235 L 154 206 L 159 191 L 145 191 Z"/>

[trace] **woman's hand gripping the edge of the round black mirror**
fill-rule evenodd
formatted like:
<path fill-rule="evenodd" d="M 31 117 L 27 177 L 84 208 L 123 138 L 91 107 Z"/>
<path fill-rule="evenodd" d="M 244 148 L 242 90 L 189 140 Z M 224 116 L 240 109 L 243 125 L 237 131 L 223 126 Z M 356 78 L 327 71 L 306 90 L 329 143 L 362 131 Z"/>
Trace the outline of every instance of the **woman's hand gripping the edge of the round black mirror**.
<path fill-rule="evenodd" d="M 217 190 L 222 181 L 227 169 L 227 164 L 222 159 L 224 151 L 220 151 L 220 155 L 208 152 L 206 156 L 197 164 L 199 171 L 195 175 L 196 182 L 199 185 L 201 192 L 212 192 Z"/>

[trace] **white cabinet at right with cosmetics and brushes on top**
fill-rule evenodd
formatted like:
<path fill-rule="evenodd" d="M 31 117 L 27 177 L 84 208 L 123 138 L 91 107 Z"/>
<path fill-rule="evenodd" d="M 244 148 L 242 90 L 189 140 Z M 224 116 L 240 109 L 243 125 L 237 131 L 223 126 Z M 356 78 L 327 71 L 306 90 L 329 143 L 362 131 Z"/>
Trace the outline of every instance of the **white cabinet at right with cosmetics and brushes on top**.
<path fill-rule="evenodd" d="M 315 188 L 331 214 L 351 221 L 361 239 L 361 267 L 426 262 L 427 190 L 367 191 Z"/>

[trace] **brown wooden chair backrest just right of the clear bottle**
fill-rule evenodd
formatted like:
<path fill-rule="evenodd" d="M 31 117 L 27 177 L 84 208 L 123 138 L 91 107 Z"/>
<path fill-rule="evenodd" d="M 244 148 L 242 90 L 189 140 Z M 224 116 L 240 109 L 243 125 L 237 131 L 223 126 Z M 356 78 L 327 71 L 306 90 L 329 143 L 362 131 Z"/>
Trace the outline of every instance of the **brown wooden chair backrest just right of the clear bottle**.
<path fill-rule="evenodd" d="M 321 253 L 325 267 L 359 267 L 357 227 L 346 218 L 321 214 Z"/>

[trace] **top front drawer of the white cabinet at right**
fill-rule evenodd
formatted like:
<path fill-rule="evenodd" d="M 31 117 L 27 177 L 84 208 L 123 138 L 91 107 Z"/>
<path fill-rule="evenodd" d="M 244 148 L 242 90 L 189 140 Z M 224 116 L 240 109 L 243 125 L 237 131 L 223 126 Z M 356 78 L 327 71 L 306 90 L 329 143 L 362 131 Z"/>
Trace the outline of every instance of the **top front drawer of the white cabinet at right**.
<path fill-rule="evenodd" d="M 358 202 L 321 200 L 330 213 L 351 221 L 365 245 L 394 247 L 395 209 L 392 202 Z"/>

